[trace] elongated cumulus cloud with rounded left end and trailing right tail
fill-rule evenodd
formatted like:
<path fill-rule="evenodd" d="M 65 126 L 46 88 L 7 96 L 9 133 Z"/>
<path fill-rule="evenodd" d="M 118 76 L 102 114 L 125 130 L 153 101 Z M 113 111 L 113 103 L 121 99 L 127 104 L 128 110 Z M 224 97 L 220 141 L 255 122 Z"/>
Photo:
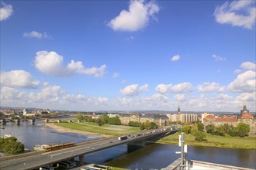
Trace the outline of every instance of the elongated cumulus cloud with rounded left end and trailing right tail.
<path fill-rule="evenodd" d="M 34 64 L 37 70 L 51 76 L 71 76 L 74 73 L 79 73 L 102 77 L 106 74 L 105 64 L 100 67 L 93 66 L 92 68 L 85 68 L 81 61 L 75 62 L 74 60 L 71 60 L 71 63 L 64 66 L 63 56 L 60 56 L 54 51 L 37 52 Z"/>

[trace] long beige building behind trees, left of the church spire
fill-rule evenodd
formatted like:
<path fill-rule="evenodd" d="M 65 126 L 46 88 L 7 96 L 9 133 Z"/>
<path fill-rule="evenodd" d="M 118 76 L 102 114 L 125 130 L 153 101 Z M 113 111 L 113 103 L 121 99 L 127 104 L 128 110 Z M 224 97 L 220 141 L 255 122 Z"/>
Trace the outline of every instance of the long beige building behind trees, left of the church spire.
<path fill-rule="evenodd" d="M 154 122 L 157 126 L 166 126 L 168 117 L 162 114 L 119 114 L 121 124 L 128 124 L 130 121 L 144 123 L 146 121 Z"/>

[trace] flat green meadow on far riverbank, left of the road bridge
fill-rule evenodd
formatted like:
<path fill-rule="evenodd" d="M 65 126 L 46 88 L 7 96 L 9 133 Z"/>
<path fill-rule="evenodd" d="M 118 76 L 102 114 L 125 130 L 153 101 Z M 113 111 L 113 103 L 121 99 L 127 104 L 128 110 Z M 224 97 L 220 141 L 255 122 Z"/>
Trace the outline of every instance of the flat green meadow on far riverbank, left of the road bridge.
<path fill-rule="evenodd" d="M 118 136 L 121 134 L 130 134 L 137 131 L 140 131 L 140 128 L 127 127 L 127 126 L 118 126 L 118 125 L 110 125 L 104 124 L 99 126 L 96 123 L 92 122 L 83 122 L 83 123 L 54 123 L 57 126 L 61 126 L 64 128 L 71 128 L 79 131 L 88 131 L 95 134 L 107 134 L 112 136 Z"/>

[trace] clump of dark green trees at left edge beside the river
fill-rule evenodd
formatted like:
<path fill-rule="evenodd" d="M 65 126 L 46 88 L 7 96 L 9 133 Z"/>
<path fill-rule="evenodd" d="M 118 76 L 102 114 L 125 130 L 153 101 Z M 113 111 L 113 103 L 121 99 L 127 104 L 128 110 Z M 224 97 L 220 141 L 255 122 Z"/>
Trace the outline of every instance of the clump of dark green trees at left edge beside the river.
<path fill-rule="evenodd" d="M 0 150 L 12 155 L 24 153 L 24 145 L 15 137 L 0 138 Z"/>

